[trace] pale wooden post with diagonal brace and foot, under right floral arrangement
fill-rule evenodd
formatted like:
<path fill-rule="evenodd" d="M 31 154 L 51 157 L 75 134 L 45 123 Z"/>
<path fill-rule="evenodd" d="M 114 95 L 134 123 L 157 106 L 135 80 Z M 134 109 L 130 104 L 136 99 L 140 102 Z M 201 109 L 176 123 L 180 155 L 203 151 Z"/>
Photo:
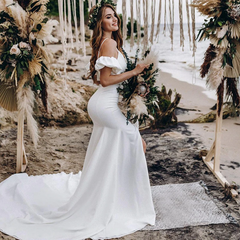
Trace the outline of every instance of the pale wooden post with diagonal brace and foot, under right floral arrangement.
<path fill-rule="evenodd" d="M 216 114 L 216 132 L 215 132 L 215 141 L 211 146 L 206 158 L 203 158 L 203 161 L 212 171 L 218 181 L 225 187 L 225 184 L 229 184 L 227 179 L 220 172 L 220 153 L 221 153 L 221 136 L 222 136 L 222 117 L 223 117 L 223 106 L 221 107 L 220 115 L 218 116 L 219 109 L 219 100 L 217 101 L 217 114 Z M 214 157 L 213 161 L 212 158 Z M 231 189 L 231 195 L 236 197 L 238 195 L 237 191 Z"/>

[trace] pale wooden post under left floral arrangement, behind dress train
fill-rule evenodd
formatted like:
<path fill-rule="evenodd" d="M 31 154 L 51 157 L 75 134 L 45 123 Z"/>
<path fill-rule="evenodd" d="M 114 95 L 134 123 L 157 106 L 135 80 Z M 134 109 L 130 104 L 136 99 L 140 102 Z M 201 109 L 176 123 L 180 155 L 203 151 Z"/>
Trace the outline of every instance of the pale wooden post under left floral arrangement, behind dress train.
<path fill-rule="evenodd" d="M 24 172 L 28 164 L 24 148 L 23 135 L 24 135 L 24 116 L 20 116 L 18 114 L 16 173 Z"/>

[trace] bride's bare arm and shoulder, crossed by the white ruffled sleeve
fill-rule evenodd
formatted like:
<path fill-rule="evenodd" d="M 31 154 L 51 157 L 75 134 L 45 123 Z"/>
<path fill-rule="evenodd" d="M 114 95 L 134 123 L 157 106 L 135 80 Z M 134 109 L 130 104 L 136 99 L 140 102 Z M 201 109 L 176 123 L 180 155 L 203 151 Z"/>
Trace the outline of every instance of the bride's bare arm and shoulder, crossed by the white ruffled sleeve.
<path fill-rule="evenodd" d="M 117 58 L 117 54 L 117 43 L 113 39 L 106 40 L 101 48 L 101 56 Z M 138 64 L 133 70 L 117 75 L 111 75 L 112 69 L 104 67 L 100 70 L 100 82 L 103 87 L 114 85 L 140 74 L 148 66 L 146 64 Z"/>

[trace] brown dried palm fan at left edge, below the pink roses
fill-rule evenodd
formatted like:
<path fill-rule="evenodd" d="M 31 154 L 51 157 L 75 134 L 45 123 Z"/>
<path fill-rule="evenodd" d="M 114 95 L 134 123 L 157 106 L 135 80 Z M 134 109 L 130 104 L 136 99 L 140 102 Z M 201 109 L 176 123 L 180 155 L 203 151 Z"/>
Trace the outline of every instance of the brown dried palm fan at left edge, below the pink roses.
<path fill-rule="evenodd" d="M 17 111 L 16 86 L 0 81 L 0 106 L 8 111 Z"/>

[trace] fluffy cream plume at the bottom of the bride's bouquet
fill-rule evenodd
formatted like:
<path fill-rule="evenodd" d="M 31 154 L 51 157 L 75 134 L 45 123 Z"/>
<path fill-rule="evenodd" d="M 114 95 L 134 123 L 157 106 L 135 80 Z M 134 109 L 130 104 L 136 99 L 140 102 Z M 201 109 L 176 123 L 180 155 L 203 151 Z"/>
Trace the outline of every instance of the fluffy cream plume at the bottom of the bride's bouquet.
<path fill-rule="evenodd" d="M 144 98 L 138 94 L 133 95 L 132 99 L 130 100 L 129 110 L 138 117 L 140 117 L 142 114 L 148 115 Z"/>

